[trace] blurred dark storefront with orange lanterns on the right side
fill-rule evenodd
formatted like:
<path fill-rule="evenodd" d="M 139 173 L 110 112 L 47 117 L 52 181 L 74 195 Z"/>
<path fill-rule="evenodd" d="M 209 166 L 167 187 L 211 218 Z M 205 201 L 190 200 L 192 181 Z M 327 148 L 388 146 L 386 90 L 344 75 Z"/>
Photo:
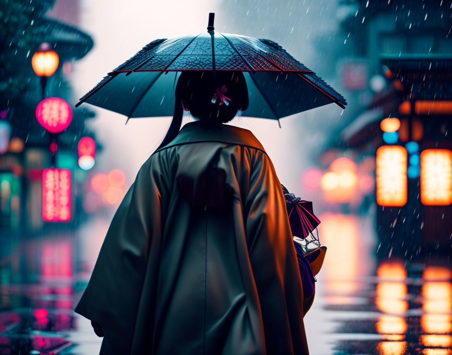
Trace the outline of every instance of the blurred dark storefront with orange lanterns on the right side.
<path fill-rule="evenodd" d="M 376 206 L 379 255 L 450 253 L 452 10 L 442 2 L 396 0 L 343 1 L 339 12 L 349 50 L 335 53 L 336 65 L 346 97 L 357 104 L 323 156 L 335 152 L 334 159 L 356 166 L 373 161 L 368 175 L 356 175 L 356 186 L 371 176 L 363 201 Z M 341 185 L 345 178 L 325 176 L 333 162 L 323 165 L 322 180 Z M 352 195 L 342 201 L 347 208 L 359 194 Z"/>

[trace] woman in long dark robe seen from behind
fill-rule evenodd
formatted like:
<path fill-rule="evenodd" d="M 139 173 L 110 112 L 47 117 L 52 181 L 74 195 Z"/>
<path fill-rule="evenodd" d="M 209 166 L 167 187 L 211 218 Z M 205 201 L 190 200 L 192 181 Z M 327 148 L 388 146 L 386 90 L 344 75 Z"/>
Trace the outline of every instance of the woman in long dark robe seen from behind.
<path fill-rule="evenodd" d="M 101 354 L 308 354 L 273 164 L 246 129 L 242 72 L 182 72 L 175 113 L 106 233 L 75 311 Z M 181 127 L 184 110 L 196 121 Z"/>

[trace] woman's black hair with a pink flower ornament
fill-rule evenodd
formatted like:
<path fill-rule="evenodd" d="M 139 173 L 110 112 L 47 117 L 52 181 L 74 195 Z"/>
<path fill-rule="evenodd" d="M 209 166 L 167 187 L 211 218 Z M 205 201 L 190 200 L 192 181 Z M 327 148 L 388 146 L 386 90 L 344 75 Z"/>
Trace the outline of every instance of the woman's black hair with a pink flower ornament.
<path fill-rule="evenodd" d="M 218 90 L 225 98 L 217 97 Z M 239 110 L 248 108 L 245 76 L 240 71 L 182 72 L 176 85 L 173 121 L 157 149 L 170 143 L 178 135 L 184 108 L 195 119 L 206 124 L 231 121 Z"/>

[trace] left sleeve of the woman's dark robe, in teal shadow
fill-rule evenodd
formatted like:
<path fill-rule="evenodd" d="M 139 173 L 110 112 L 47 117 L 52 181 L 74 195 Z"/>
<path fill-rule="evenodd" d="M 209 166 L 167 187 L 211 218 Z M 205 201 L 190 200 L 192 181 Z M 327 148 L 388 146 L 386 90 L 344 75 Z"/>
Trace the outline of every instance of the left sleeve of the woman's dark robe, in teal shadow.
<path fill-rule="evenodd" d="M 158 255 L 168 190 L 163 152 L 151 155 L 116 211 L 75 312 L 98 323 L 101 353 L 130 353 L 149 256 Z"/>

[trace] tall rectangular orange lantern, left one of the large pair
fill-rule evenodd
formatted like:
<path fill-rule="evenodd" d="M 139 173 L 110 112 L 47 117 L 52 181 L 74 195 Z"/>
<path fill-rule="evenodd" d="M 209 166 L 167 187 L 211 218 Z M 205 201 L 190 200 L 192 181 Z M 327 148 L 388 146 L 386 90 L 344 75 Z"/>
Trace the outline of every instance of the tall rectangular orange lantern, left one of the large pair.
<path fill-rule="evenodd" d="M 401 146 L 382 146 L 377 149 L 377 204 L 404 206 L 408 199 L 408 153 Z"/>

